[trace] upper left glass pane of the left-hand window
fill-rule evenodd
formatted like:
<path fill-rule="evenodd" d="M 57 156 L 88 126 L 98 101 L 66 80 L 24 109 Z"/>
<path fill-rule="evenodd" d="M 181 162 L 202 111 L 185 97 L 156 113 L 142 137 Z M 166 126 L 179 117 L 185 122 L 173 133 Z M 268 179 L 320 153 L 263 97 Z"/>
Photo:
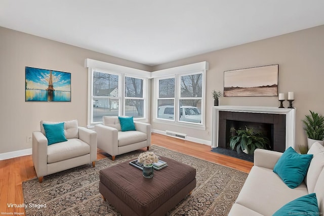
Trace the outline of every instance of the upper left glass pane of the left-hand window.
<path fill-rule="evenodd" d="M 118 97 L 118 75 L 94 72 L 93 96 Z"/>

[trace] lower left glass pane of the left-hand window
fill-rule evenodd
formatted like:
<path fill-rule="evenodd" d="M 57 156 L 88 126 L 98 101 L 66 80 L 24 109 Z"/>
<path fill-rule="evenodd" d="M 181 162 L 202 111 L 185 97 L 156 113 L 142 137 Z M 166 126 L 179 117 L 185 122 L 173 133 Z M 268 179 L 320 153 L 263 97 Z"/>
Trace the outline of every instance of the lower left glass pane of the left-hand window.
<path fill-rule="evenodd" d="M 93 121 L 102 121 L 102 116 L 118 116 L 118 99 L 94 98 Z"/>

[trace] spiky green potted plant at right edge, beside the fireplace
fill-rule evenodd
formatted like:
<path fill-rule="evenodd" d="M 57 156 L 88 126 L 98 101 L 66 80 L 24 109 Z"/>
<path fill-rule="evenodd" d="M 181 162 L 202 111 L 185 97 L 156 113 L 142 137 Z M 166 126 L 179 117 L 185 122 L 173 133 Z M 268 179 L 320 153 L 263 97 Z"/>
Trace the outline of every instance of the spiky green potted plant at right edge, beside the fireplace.
<path fill-rule="evenodd" d="M 307 134 L 308 148 L 310 148 L 314 142 L 324 144 L 324 116 L 309 110 L 310 115 L 305 115 L 304 130 Z"/>

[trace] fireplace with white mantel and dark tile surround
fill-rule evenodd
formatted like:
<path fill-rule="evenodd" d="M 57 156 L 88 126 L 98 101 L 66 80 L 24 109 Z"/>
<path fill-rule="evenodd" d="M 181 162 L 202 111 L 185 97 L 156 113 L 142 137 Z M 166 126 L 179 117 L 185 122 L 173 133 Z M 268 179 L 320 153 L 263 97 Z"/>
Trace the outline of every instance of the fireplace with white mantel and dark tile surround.
<path fill-rule="evenodd" d="M 295 147 L 295 109 L 242 106 L 213 107 L 212 147 L 226 148 L 230 127 L 246 125 L 262 131 L 270 140 L 271 150 L 284 152 Z"/>

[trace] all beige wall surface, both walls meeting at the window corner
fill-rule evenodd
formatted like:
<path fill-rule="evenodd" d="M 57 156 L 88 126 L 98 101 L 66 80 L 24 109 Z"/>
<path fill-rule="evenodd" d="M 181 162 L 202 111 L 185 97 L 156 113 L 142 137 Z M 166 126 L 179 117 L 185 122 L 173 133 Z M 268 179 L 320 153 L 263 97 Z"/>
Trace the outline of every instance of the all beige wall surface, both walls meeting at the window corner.
<path fill-rule="evenodd" d="M 250 44 L 215 51 L 155 67 L 103 55 L 49 39 L 0 27 L 0 154 L 31 148 L 26 137 L 39 129 L 39 121 L 78 119 L 87 124 L 88 73 L 84 60 L 91 58 L 113 64 L 155 71 L 201 61 L 207 71 L 206 131 L 152 122 L 161 131 L 185 133 L 211 141 L 212 90 L 223 90 L 225 70 L 279 64 L 279 93 L 295 92 L 296 144 L 306 145 L 301 120 L 308 110 L 324 114 L 324 26 L 272 37 Z M 25 66 L 71 73 L 71 102 L 25 102 Z M 151 82 L 152 83 L 152 82 Z M 151 97 L 152 98 L 152 97 Z M 279 106 L 277 97 L 228 97 L 220 105 Z M 288 102 L 284 105 L 287 107 Z M 151 104 L 152 107 L 152 104 Z"/>

